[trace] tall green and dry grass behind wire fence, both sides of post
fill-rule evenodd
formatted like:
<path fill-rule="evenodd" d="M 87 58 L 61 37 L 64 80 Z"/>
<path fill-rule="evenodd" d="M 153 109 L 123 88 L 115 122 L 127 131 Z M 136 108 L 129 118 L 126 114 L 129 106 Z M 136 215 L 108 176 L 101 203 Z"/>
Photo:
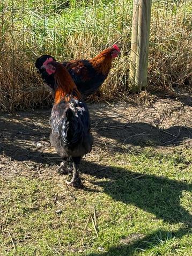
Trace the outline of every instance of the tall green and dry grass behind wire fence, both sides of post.
<path fill-rule="evenodd" d="M 17 2 L 17 3 L 16 3 Z M 191 1 L 154 1 L 151 17 L 149 89 L 172 93 L 191 85 Z M 13 111 L 50 106 L 51 97 L 36 73 L 41 54 L 57 60 L 90 58 L 117 43 L 100 99 L 129 94 L 132 1 L 2 2 L 0 37 L 0 109 Z"/>

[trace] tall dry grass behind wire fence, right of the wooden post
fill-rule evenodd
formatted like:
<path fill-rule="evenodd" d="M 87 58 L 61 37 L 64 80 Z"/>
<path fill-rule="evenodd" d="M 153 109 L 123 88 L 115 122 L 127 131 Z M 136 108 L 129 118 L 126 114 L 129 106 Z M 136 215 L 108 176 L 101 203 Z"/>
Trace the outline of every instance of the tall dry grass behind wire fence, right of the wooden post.
<path fill-rule="evenodd" d="M 149 85 L 169 93 L 174 92 L 175 85 L 192 84 L 192 8 L 180 2 L 162 10 L 154 5 L 152 10 Z"/>

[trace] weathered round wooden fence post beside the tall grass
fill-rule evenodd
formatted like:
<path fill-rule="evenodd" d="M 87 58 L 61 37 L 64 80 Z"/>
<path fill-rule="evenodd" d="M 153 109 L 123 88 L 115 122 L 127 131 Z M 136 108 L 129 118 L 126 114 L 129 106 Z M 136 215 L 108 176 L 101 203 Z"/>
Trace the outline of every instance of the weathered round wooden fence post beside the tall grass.
<path fill-rule="evenodd" d="M 151 0 L 134 0 L 129 89 L 138 92 L 147 85 Z"/>

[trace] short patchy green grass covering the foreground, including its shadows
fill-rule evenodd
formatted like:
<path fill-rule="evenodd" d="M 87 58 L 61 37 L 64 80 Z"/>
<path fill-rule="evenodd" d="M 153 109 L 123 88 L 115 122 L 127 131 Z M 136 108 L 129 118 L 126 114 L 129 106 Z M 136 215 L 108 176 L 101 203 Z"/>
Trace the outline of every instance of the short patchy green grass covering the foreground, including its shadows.
<path fill-rule="evenodd" d="M 0 255 L 188 256 L 191 160 L 150 147 L 101 156 L 82 163 L 85 189 L 51 174 L 1 177 Z"/>

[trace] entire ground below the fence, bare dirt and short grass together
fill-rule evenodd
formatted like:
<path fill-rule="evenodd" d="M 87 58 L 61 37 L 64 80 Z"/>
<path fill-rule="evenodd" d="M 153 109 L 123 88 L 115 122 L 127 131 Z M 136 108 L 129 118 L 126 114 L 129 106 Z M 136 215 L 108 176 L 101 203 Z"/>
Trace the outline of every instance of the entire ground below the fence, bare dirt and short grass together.
<path fill-rule="evenodd" d="M 0 254 L 190 255 L 191 107 L 88 106 L 83 189 L 56 171 L 50 109 L 1 116 Z"/>

